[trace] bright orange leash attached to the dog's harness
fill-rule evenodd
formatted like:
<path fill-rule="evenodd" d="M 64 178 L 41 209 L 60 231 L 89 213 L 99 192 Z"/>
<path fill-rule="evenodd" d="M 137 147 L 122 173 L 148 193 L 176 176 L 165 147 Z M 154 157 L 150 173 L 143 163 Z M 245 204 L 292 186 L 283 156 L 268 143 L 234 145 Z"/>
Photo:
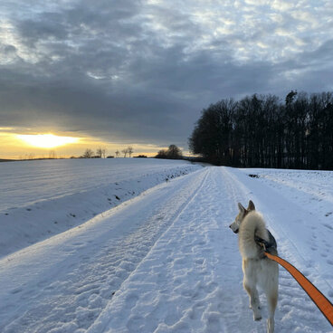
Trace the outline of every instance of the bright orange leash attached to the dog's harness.
<path fill-rule="evenodd" d="M 277 255 L 265 252 L 266 256 L 278 262 L 283 266 L 296 281 L 299 282 L 300 287 L 309 295 L 309 298 L 317 305 L 321 313 L 328 319 L 329 323 L 333 326 L 333 305 L 332 303 L 294 266 L 289 262 L 281 259 Z"/>

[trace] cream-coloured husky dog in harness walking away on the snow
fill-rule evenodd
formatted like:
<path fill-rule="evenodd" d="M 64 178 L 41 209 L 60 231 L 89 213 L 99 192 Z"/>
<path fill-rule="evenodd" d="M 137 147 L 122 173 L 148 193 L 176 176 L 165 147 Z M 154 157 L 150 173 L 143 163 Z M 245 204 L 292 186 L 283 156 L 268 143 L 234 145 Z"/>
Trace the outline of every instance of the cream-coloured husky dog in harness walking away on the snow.
<path fill-rule="evenodd" d="M 274 332 L 274 312 L 278 302 L 279 267 L 277 262 L 268 259 L 264 250 L 277 255 L 277 244 L 274 237 L 266 229 L 262 214 L 255 211 L 250 200 L 249 206 L 244 208 L 238 204 L 239 214 L 230 228 L 238 233 L 238 244 L 243 257 L 243 287 L 250 297 L 250 308 L 253 319 L 261 320 L 261 308 L 257 285 L 266 294 L 269 319 L 267 332 Z"/>

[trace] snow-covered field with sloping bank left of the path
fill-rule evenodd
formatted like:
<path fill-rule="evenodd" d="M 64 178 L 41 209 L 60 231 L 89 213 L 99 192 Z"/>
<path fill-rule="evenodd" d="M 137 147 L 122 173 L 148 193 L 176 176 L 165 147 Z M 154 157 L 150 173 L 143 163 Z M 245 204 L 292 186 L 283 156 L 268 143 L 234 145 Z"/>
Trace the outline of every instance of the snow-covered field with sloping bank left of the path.
<path fill-rule="evenodd" d="M 160 159 L 0 164 L 0 256 L 62 233 L 201 166 Z"/>

